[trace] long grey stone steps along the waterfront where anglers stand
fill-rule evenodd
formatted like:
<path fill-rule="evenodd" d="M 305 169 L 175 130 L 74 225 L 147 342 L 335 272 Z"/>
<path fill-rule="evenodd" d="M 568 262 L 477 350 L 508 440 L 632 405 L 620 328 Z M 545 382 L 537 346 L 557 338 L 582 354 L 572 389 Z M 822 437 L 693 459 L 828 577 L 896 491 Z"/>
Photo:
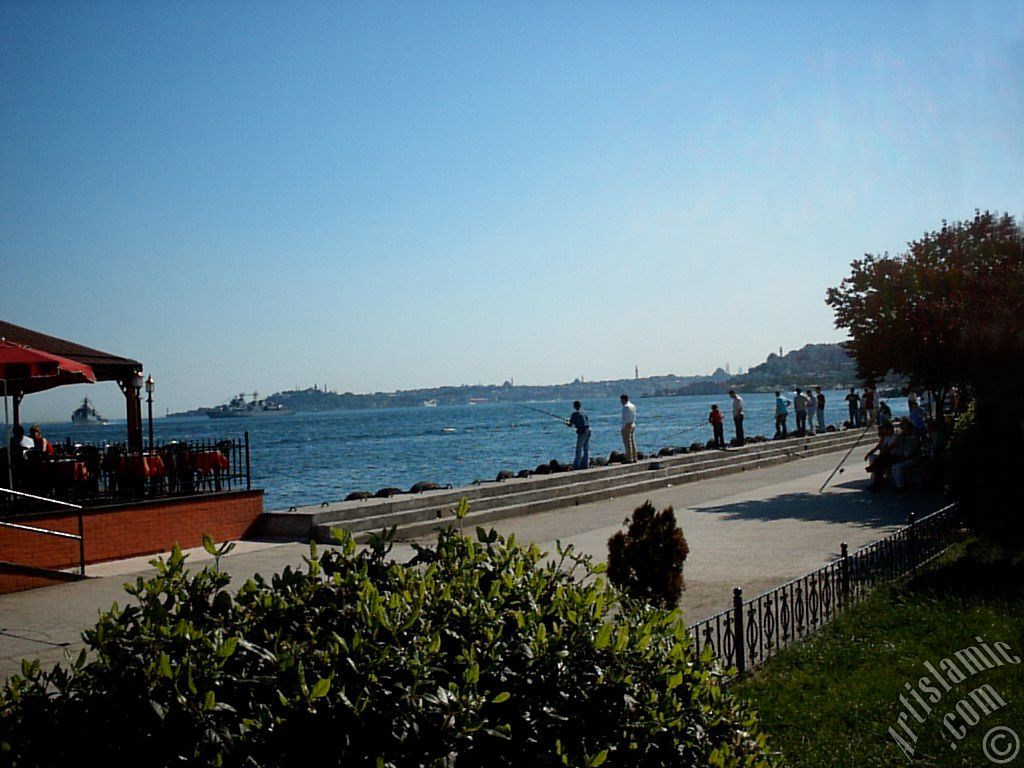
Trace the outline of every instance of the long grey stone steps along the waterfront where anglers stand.
<path fill-rule="evenodd" d="M 614 472 L 602 473 L 606 468 L 596 468 L 562 475 L 548 475 L 544 476 L 540 483 L 527 484 L 519 479 L 509 480 L 504 484 L 503 493 L 488 494 L 475 499 L 471 498 L 469 492 L 477 486 L 469 486 L 460 489 L 464 493 L 449 494 L 434 500 L 422 499 L 419 505 L 387 512 L 382 510 L 382 505 L 364 506 L 362 514 L 347 514 L 344 517 L 324 518 L 313 522 L 310 534 L 317 541 L 330 542 L 333 540 L 333 528 L 344 528 L 359 539 L 366 539 L 371 532 L 396 526 L 400 536 L 417 536 L 442 524 L 454 524 L 453 511 L 463 497 L 470 502 L 470 513 L 463 524 L 476 525 L 516 515 L 534 514 L 616 496 L 646 493 L 723 474 L 760 469 L 807 456 L 848 450 L 859 436 L 859 432 L 852 431 L 828 433 L 820 438 L 758 443 L 736 451 L 700 452 L 682 457 L 666 457 L 615 467 Z M 685 461 L 668 461 L 668 459 Z M 359 510 L 352 510 L 352 512 L 357 511 Z"/>

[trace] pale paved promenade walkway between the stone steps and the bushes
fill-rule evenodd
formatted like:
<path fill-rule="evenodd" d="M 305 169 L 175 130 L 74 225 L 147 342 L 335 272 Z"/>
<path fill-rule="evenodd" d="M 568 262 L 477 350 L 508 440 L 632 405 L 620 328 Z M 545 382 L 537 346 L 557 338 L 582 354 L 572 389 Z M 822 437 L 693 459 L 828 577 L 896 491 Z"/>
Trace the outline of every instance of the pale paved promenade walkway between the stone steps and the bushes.
<path fill-rule="evenodd" d="M 853 551 L 898 527 L 910 510 L 925 513 L 941 506 L 934 497 L 867 493 L 866 475 L 856 456 L 819 495 L 818 487 L 841 457 L 819 456 L 510 518 L 494 527 L 547 551 L 554 551 L 555 542 L 561 541 L 603 560 L 608 538 L 622 529 L 633 509 L 645 499 L 658 509 L 671 504 L 690 546 L 682 607 L 687 621 L 695 623 L 727 608 L 734 587 L 742 587 L 752 597 L 834 559 L 842 542 Z M 399 543 L 394 555 L 408 559 L 412 552 L 408 543 Z M 303 544 L 242 542 L 221 560 L 221 567 L 240 585 L 253 573 L 269 575 L 288 565 L 301 566 L 308 553 Z M 63 658 L 66 651 L 77 654 L 82 630 L 95 623 L 100 610 L 130 599 L 123 585 L 152 573 L 150 559 L 94 565 L 87 572 L 96 578 L 85 582 L 0 595 L 0 679 L 18 672 L 25 657 L 50 665 Z M 203 550 L 189 553 L 191 563 L 211 560 Z"/>

